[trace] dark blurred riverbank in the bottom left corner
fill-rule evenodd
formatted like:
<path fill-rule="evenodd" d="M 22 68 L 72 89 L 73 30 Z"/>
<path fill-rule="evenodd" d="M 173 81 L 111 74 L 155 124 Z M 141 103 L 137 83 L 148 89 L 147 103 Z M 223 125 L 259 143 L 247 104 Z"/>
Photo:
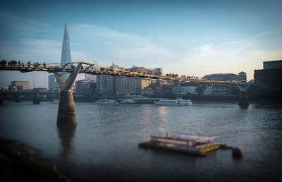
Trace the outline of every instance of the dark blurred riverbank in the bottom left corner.
<path fill-rule="evenodd" d="M 72 181 L 37 152 L 13 140 L 0 139 L 0 181 Z"/>

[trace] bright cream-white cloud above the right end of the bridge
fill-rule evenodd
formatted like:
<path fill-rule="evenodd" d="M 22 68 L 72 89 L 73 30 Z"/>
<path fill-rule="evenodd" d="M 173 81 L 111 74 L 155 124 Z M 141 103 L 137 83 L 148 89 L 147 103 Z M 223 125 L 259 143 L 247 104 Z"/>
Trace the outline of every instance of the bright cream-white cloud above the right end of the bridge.
<path fill-rule="evenodd" d="M 248 79 L 252 79 L 254 69 L 262 68 L 262 61 L 282 59 L 281 43 L 277 43 L 276 49 L 265 46 L 271 42 L 269 37 L 276 33 L 267 31 L 243 40 L 200 45 L 183 57 L 184 67 L 188 68 L 186 71 L 191 75 L 199 76 L 245 71 Z M 180 72 L 184 72 L 184 69 Z"/>

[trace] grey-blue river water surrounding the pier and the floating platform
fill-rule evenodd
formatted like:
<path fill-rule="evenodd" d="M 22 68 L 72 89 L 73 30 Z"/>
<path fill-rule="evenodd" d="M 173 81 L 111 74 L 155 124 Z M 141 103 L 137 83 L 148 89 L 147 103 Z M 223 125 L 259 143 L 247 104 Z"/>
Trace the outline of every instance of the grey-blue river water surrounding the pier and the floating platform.
<path fill-rule="evenodd" d="M 282 109 L 240 109 L 237 102 L 192 106 L 75 102 L 77 126 L 56 126 L 58 102 L 4 102 L 0 138 L 17 140 L 75 181 L 281 181 Z M 243 149 L 192 157 L 138 147 L 150 135 L 215 135 Z"/>

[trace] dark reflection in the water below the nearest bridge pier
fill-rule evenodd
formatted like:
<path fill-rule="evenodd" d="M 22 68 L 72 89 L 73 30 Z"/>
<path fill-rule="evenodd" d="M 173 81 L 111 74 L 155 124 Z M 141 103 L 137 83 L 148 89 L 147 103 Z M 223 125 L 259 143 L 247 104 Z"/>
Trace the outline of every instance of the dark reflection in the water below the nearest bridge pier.
<path fill-rule="evenodd" d="M 61 139 L 61 157 L 67 158 L 73 154 L 73 138 L 76 126 L 57 126 L 58 135 Z"/>

